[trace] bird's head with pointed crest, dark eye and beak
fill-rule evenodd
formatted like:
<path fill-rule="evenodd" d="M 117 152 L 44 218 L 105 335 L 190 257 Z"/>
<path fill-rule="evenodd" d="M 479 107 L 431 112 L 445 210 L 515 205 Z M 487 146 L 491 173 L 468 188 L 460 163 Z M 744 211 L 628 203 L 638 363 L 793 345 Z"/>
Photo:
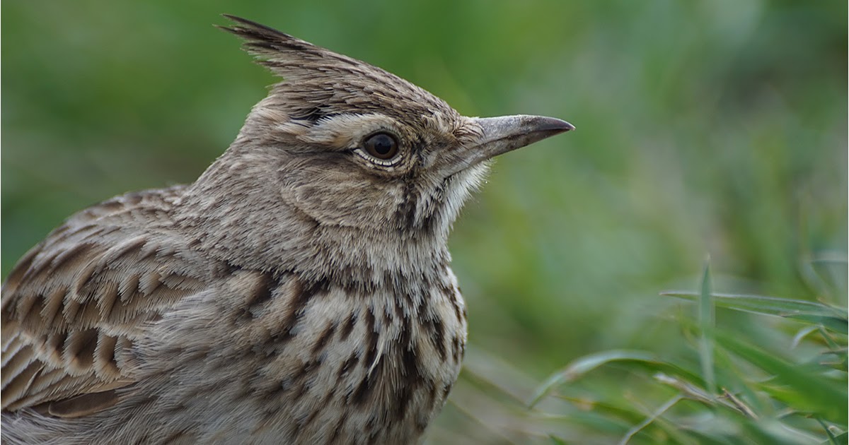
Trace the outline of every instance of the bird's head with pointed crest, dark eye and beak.
<path fill-rule="evenodd" d="M 223 29 L 283 78 L 194 186 L 200 214 L 239 215 L 233 238 L 283 211 L 286 224 L 337 237 L 444 240 L 489 159 L 573 129 L 539 116 L 465 117 L 385 70 L 227 17 L 235 25 Z"/>

